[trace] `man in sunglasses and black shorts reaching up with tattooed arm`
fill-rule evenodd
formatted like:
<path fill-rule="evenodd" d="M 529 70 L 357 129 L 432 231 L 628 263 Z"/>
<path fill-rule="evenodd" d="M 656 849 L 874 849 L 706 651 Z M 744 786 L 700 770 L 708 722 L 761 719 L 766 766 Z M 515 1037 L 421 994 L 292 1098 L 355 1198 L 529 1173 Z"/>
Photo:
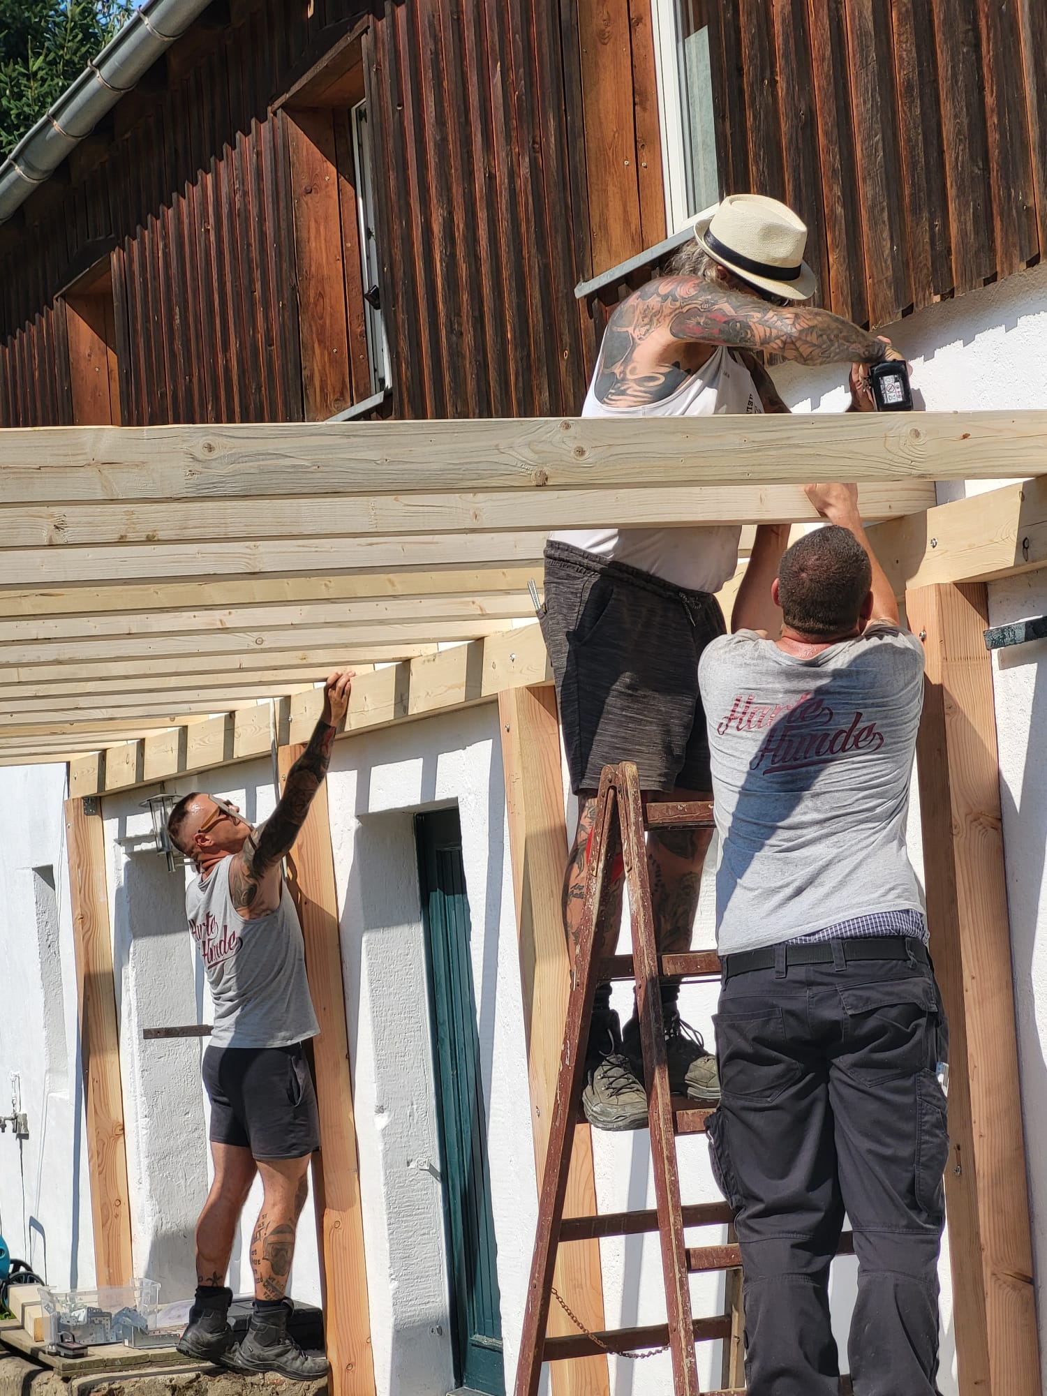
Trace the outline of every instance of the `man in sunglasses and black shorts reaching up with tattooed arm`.
<path fill-rule="evenodd" d="M 204 1054 L 215 1181 L 197 1223 L 197 1294 L 179 1351 L 290 1381 L 317 1381 L 328 1362 L 322 1353 L 303 1353 L 288 1333 L 288 1275 L 309 1160 L 320 1148 L 303 1044 L 320 1027 L 302 927 L 281 866 L 327 775 L 352 677 L 346 671 L 328 678 L 320 722 L 265 824 L 253 829 L 236 805 L 200 793 L 180 800 L 168 821 L 172 843 L 197 868 L 186 913 L 215 1002 Z M 255 1171 L 264 1199 L 251 1237 L 254 1312 L 243 1342 L 233 1343 L 233 1294 L 225 1279 Z"/>

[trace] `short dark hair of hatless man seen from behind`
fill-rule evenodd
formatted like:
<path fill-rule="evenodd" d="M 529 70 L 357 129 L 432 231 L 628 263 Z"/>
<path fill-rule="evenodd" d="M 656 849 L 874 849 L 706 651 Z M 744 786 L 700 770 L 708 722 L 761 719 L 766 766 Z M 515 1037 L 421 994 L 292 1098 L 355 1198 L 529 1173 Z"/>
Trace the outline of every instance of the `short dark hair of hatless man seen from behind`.
<path fill-rule="evenodd" d="M 778 567 L 778 600 L 786 625 L 832 639 L 854 630 L 872 585 L 868 556 L 850 532 L 826 524 L 797 539 Z"/>

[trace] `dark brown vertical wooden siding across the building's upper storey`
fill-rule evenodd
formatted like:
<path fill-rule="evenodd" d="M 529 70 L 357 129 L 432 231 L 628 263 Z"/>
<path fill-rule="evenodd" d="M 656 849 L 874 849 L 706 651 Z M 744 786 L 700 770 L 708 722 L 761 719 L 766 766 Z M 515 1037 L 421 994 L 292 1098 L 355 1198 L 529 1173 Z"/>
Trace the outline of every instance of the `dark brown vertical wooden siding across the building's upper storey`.
<path fill-rule="evenodd" d="M 392 413 L 577 412 L 627 288 L 578 304 L 574 286 L 666 232 L 651 0 L 230 4 L 232 27 L 194 25 L 0 229 L 0 424 L 82 410 L 63 288 L 75 297 L 99 258 L 113 420 L 300 420 L 370 395 L 348 106 L 331 96 L 355 24 Z M 687 10 L 709 32 L 722 190 L 800 211 L 822 304 L 888 324 L 1040 255 L 1041 4 Z M 303 107 L 332 123 L 304 151 Z"/>

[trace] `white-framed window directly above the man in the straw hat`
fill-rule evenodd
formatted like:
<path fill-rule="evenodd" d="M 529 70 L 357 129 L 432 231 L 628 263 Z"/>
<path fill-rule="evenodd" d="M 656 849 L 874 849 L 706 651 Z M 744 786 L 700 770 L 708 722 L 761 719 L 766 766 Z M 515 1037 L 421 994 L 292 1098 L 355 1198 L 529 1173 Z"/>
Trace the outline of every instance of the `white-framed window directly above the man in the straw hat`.
<path fill-rule="evenodd" d="M 667 232 L 720 197 L 709 27 L 701 0 L 651 0 Z"/>

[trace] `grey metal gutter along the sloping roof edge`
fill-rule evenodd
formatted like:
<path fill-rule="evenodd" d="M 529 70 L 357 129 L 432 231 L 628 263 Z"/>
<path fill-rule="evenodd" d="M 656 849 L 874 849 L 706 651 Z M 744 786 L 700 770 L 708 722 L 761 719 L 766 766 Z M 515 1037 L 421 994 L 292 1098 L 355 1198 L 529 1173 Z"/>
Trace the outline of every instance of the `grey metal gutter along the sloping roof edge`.
<path fill-rule="evenodd" d="M 130 92 L 211 0 L 145 0 L 0 165 L 0 223 Z"/>

